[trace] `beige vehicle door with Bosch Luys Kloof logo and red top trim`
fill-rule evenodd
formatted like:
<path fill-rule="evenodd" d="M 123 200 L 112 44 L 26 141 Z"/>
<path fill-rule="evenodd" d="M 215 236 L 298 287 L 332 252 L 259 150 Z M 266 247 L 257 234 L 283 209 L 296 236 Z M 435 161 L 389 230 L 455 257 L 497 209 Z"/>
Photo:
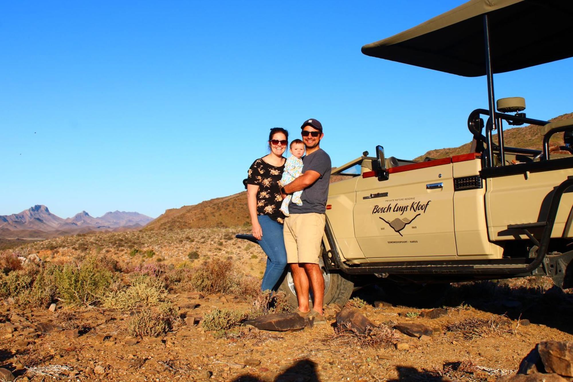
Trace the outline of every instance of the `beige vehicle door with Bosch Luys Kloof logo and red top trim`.
<path fill-rule="evenodd" d="M 370 262 L 454 259 L 451 159 L 390 167 L 388 173 L 379 181 L 375 171 L 366 171 L 356 184 L 354 229 L 364 256 Z"/>

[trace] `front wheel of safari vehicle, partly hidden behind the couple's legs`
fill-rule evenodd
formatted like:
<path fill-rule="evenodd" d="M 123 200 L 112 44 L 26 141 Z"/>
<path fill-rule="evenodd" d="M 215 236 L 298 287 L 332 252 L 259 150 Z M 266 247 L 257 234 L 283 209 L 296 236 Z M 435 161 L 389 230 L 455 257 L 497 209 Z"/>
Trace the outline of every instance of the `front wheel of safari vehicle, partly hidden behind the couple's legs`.
<path fill-rule="evenodd" d="M 350 298 L 354 283 L 348 280 L 346 278 L 347 276 L 343 273 L 329 272 L 324 266 L 322 257 L 319 259 L 319 266 L 324 276 L 324 305 L 336 303 L 339 306 L 344 306 Z M 299 302 L 296 299 L 295 284 L 293 283 L 290 269 L 286 271 L 278 290 L 286 293 L 289 305 L 295 308 L 299 307 Z M 309 302 L 312 307 L 312 290 L 310 291 Z"/>

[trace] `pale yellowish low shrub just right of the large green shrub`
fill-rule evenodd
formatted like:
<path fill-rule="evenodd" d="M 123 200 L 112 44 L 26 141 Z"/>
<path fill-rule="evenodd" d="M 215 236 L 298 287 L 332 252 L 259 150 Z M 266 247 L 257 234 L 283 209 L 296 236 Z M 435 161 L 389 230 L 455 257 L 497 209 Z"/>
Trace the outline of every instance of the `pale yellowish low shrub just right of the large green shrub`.
<path fill-rule="evenodd" d="M 108 293 L 103 298 L 103 305 L 121 310 L 159 306 L 166 300 L 166 295 L 167 291 L 161 280 L 149 276 L 138 276 L 134 277 L 128 287 Z"/>

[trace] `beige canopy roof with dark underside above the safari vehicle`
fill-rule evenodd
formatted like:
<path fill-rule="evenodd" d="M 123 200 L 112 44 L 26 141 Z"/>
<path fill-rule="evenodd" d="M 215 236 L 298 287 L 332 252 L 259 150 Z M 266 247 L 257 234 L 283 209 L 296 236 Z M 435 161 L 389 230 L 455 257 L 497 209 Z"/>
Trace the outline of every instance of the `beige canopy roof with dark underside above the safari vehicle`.
<path fill-rule="evenodd" d="M 493 73 L 573 56 L 573 0 L 471 0 L 362 53 L 460 76 L 485 75 L 489 19 Z"/>

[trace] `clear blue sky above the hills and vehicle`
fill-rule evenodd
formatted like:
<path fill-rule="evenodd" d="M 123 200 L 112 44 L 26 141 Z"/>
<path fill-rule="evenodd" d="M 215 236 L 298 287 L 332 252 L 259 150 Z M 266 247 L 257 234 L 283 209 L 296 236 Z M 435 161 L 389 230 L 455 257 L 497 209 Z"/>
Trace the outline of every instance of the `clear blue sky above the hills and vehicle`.
<path fill-rule="evenodd" d="M 308 118 L 333 166 L 468 142 L 484 77 L 360 53 L 460 3 L 2 2 L 0 215 L 156 217 L 240 192 L 269 128 L 297 138 Z M 571 112 L 572 63 L 497 75 L 496 98 Z"/>

